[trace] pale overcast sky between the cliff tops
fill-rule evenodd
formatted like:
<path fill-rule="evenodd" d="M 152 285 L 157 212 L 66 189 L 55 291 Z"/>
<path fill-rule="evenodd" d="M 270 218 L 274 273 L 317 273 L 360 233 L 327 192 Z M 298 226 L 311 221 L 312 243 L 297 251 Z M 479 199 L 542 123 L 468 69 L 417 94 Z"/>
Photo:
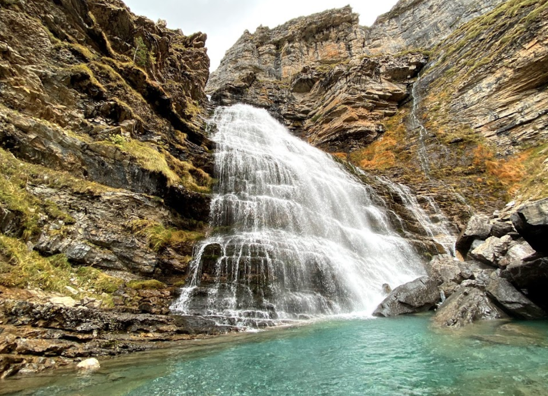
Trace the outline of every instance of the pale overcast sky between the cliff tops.
<path fill-rule="evenodd" d="M 242 36 L 259 25 L 276 27 L 292 18 L 349 4 L 349 0 L 124 0 L 138 15 L 156 21 L 165 19 L 168 27 L 181 28 L 185 34 L 207 33 L 210 69 L 213 71 L 225 52 Z M 370 26 L 380 14 L 389 11 L 397 0 L 351 0 L 359 24 Z"/>

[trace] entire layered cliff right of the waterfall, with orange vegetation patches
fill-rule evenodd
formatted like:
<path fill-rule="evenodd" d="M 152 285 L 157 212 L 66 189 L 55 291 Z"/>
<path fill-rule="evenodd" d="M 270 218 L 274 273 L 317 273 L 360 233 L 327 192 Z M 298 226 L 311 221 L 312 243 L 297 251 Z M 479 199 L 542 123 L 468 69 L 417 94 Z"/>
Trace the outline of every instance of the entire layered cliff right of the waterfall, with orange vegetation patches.
<path fill-rule="evenodd" d="M 269 109 L 462 222 L 471 208 L 548 194 L 532 187 L 546 184 L 544 170 L 525 176 L 545 167 L 545 4 L 409 0 L 368 28 L 349 7 L 259 27 L 227 51 L 207 91 Z"/>

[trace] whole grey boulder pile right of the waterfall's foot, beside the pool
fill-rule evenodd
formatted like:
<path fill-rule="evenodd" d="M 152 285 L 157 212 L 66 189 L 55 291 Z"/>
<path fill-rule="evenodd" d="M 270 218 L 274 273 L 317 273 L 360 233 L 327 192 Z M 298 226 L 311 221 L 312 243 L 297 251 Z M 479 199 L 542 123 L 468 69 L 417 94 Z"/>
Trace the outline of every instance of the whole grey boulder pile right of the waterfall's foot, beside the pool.
<path fill-rule="evenodd" d="M 541 242 L 542 241 L 542 242 Z M 493 216 L 473 216 L 456 242 L 461 259 L 436 255 L 429 276 L 393 290 L 376 316 L 436 308 L 439 327 L 460 328 L 482 319 L 547 316 L 548 199 L 513 203 Z"/>

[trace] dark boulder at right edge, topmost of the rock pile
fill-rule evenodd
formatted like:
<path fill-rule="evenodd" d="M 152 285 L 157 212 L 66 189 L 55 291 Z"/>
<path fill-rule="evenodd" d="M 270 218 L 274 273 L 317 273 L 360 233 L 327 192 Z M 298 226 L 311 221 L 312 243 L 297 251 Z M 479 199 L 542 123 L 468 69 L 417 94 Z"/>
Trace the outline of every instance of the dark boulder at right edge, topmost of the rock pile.
<path fill-rule="evenodd" d="M 548 254 L 548 198 L 521 206 L 511 219 L 517 232 L 535 251 Z"/>

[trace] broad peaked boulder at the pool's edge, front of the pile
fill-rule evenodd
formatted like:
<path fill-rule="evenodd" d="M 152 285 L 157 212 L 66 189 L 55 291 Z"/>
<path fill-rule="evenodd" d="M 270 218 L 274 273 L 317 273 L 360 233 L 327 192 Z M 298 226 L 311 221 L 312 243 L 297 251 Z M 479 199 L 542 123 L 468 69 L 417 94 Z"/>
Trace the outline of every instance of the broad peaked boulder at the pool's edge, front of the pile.
<path fill-rule="evenodd" d="M 443 302 L 432 321 L 439 327 L 459 328 L 479 320 L 507 317 L 503 310 L 489 300 L 485 292 L 463 287 Z"/>

